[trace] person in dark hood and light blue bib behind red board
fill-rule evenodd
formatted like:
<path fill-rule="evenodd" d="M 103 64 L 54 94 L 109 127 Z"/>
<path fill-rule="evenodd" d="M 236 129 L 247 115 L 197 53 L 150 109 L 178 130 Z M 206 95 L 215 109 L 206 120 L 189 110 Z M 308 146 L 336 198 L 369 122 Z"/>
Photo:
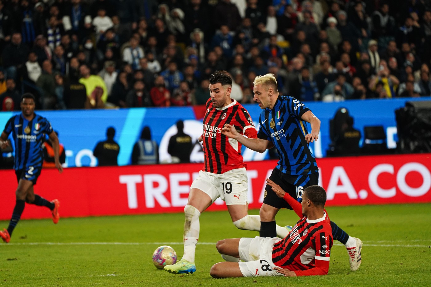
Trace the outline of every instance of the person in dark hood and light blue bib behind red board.
<path fill-rule="evenodd" d="M 141 138 L 134 144 L 132 165 L 150 165 L 159 163 L 159 146 L 151 139 L 150 127 L 145 126 L 141 132 Z"/>

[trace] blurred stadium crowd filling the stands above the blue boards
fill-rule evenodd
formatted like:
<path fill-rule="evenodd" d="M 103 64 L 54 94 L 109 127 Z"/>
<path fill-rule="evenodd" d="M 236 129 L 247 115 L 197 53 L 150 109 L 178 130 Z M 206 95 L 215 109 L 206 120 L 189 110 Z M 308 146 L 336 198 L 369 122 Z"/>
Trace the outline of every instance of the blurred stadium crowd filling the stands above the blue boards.
<path fill-rule="evenodd" d="M 0 105 L 19 109 L 206 103 L 226 70 L 301 101 L 431 95 L 428 0 L 0 0 Z"/>

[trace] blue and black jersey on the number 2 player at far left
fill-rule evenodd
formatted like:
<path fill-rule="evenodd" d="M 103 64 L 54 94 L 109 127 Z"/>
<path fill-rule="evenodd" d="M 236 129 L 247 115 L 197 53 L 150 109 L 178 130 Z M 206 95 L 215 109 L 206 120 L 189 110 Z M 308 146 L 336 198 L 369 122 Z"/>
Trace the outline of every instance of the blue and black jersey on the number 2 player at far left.
<path fill-rule="evenodd" d="M 44 134 L 53 131 L 50 122 L 40 115 L 34 114 L 31 121 L 24 119 L 22 113 L 14 115 L 6 123 L 4 133 L 12 133 L 15 141 L 15 163 L 16 170 L 28 166 L 42 166 L 42 140 Z"/>

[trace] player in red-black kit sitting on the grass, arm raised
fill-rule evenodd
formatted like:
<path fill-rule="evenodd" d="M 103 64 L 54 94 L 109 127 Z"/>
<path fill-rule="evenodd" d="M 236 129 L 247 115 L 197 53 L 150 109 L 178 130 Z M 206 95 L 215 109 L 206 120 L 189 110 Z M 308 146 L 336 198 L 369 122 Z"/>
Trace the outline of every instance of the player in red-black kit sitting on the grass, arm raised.
<path fill-rule="evenodd" d="M 278 197 L 292 206 L 301 219 L 282 240 L 258 236 L 220 240 L 216 245 L 217 250 L 231 262 L 213 265 L 211 276 L 327 275 L 333 239 L 329 217 L 324 209 L 325 190 L 318 185 L 306 187 L 302 202 L 299 203 L 274 181 L 267 179 L 267 183 Z M 238 262 L 238 259 L 243 262 Z"/>

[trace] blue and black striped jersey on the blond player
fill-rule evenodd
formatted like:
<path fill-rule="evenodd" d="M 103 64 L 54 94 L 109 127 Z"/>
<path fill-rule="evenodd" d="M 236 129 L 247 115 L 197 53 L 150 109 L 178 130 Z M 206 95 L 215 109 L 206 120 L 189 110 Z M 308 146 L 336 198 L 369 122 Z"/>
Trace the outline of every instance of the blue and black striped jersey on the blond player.
<path fill-rule="evenodd" d="M 277 168 L 287 175 L 318 172 L 316 160 L 305 140 L 307 125 L 301 116 L 310 109 L 289 96 L 278 96 L 274 108 L 266 108 L 259 117 L 257 137 L 271 141 L 278 150 Z"/>

